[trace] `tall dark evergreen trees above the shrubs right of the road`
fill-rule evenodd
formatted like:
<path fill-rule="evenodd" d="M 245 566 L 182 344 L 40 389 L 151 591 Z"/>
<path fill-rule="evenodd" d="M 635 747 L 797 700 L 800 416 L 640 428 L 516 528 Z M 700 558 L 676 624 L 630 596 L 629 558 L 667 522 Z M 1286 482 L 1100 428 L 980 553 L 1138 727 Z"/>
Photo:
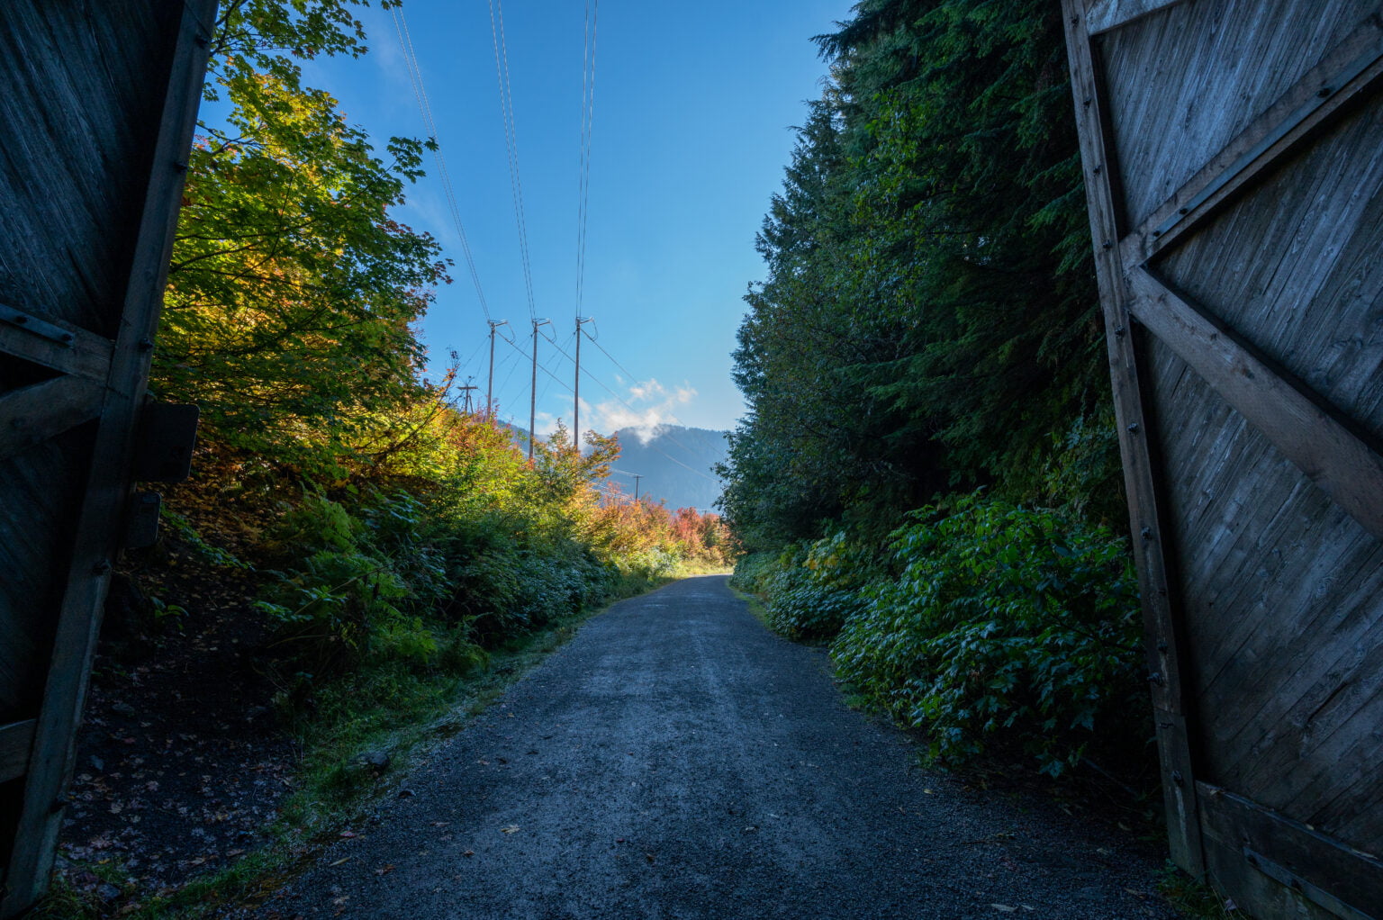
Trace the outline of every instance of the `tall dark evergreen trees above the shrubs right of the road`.
<path fill-rule="evenodd" d="M 887 531 L 965 483 L 1036 497 L 1108 403 L 1057 7 L 863 0 L 817 42 L 833 77 L 734 353 L 723 506 L 750 548 Z"/>

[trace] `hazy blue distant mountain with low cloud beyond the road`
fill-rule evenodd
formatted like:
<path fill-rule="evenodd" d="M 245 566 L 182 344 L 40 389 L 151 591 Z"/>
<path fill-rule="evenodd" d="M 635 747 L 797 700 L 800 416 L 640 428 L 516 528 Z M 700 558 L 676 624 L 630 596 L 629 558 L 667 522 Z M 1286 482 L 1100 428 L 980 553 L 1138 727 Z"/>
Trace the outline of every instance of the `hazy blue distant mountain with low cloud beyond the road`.
<path fill-rule="evenodd" d="M 647 443 L 639 440 L 639 430 L 620 429 L 620 459 L 610 481 L 618 483 L 626 495 L 633 495 L 633 475 L 639 480 L 639 495 L 662 499 L 668 508 L 696 508 L 715 510 L 721 497 L 721 481 L 711 466 L 725 459 L 727 444 L 725 432 L 704 427 L 662 425 L 654 429 Z"/>

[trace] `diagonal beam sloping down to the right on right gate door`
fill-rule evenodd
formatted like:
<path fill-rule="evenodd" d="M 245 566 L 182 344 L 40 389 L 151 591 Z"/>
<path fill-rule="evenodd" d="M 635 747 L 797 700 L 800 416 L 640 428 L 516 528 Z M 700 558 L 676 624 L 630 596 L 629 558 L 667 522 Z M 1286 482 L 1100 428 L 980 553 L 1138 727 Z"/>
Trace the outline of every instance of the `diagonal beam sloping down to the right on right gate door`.
<path fill-rule="evenodd" d="M 1383 538 L 1383 455 L 1347 418 L 1147 268 L 1133 270 L 1129 286 L 1140 322 L 1365 530 Z"/>

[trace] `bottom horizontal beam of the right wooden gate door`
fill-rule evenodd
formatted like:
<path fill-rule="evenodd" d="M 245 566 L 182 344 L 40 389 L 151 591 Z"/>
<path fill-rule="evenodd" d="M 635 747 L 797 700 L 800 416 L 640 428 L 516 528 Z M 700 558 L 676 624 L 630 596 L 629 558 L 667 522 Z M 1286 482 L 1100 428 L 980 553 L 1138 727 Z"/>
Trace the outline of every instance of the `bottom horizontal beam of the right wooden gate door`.
<path fill-rule="evenodd" d="M 1242 888 L 1245 881 L 1254 887 L 1271 880 L 1336 916 L 1377 916 L 1377 906 L 1383 905 L 1383 861 L 1377 856 L 1218 786 L 1196 783 L 1196 791 L 1206 833 L 1227 851 L 1242 856 L 1227 862 L 1221 872 L 1263 877 L 1239 884 L 1225 880 L 1231 887 Z M 1271 858 L 1265 859 L 1261 854 L 1271 854 Z"/>

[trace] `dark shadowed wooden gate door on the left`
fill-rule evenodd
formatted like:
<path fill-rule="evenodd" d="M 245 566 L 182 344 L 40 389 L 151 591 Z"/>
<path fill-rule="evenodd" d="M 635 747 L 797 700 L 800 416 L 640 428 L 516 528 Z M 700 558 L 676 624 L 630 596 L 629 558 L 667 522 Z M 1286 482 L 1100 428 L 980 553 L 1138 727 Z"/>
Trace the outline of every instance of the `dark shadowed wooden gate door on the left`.
<path fill-rule="evenodd" d="M 3 917 L 46 888 L 111 560 L 156 520 L 136 425 L 214 15 L 0 3 Z"/>

